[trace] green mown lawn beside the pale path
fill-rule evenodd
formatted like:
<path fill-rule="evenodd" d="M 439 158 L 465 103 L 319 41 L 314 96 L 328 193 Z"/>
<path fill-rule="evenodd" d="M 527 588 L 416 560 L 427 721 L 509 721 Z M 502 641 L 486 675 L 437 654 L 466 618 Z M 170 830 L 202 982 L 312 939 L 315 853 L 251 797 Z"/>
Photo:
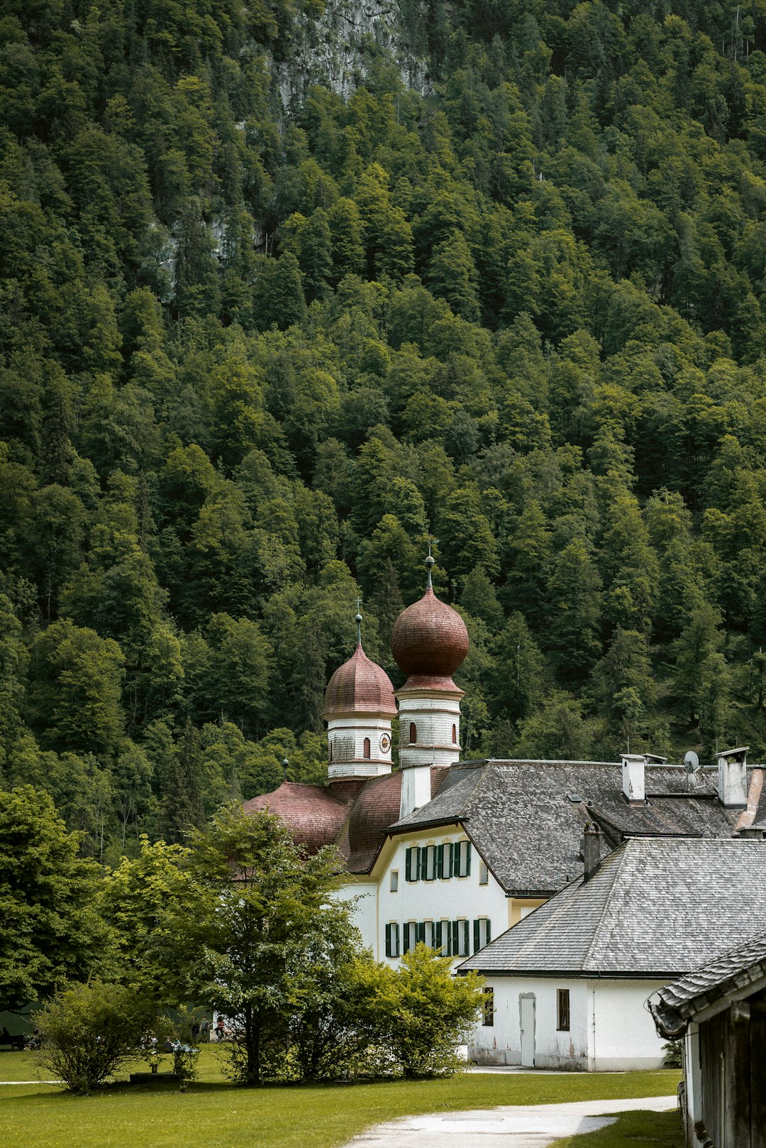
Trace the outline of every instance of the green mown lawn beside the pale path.
<path fill-rule="evenodd" d="M 169 1061 L 161 1065 L 163 1070 L 170 1070 Z M 0 1054 L 2 1080 L 32 1080 L 38 1071 L 33 1054 Z M 466 1073 L 450 1080 L 244 1089 L 222 1080 L 216 1049 L 204 1047 L 200 1081 L 186 1094 L 173 1086 L 157 1091 L 117 1083 L 79 1097 L 52 1085 L 2 1085 L 0 1128 L 5 1145 L 24 1148 L 189 1148 L 192 1143 L 205 1148 L 337 1148 L 370 1124 L 398 1116 L 497 1104 L 662 1096 L 675 1091 L 678 1079 L 677 1071 Z M 617 1148 L 623 1141 L 613 1143 Z M 635 1140 L 630 1143 L 631 1148 L 641 1145 Z M 652 1148 L 673 1146 L 672 1140 L 651 1143 Z M 574 1145 L 584 1148 L 583 1140 L 573 1140 Z M 612 1148 L 611 1141 L 594 1140 L 594 1148 L 596 1145 Z"/>

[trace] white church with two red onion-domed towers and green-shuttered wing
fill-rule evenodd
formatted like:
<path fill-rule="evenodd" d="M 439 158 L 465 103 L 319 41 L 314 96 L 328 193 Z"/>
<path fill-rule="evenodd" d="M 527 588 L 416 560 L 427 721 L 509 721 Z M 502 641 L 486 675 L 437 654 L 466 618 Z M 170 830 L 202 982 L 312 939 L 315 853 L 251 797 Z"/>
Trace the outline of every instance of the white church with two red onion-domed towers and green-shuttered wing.
<path fill-rule="evenodd" d="M 355 649 L 325 696 L 327 784 L 286 778 L 244 805 L 278 814 L 307 852 L 338 848 L 345 871 L 337 895 L 353 899 L 354 920 L 377 960 L 394 963 L 419 941 L 450 957 L 478 952 L 581 877 L 588 823 L 600 831 L 603 855 L 628 837 L 730 837 L 747 829 L 747 810 L 759 808 L 750 789 L 760 767 L 752 779 L 738 758 L 729 770 L 734 781 L 701 774 L 693 791 L 683 766 L 649 754 L 461 760 L 464 692 L 454 676 L 468 631 L 433 592 L 430 556 L 425 564 L 425 592 L 391 634 L 406 675 L 401 689 L 365 653 L 358 614 Z"/>

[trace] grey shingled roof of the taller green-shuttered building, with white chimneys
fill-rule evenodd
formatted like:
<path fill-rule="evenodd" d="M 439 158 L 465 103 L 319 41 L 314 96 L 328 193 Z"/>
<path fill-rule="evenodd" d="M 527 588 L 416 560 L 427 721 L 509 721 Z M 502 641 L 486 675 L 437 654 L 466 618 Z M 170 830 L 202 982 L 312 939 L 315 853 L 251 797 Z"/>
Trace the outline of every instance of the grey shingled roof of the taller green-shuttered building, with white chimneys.
<path fill-rule="evenodd" d="M 632 807 L 618 762 L 463 762 L 445 770 L 428 805 L 389 831 L 461 822 L 506 893 L 549 897 L 581 872 L 587 821 L 600 824 L 603 852 L 626 836 L 730 837 L 738 812 L 720 805 L 714 778 L 703 773 L 689 796 L 683 769 L 649 766 L 649 804 Z M 583 801 L 572 802 L 568 793 Z"/>

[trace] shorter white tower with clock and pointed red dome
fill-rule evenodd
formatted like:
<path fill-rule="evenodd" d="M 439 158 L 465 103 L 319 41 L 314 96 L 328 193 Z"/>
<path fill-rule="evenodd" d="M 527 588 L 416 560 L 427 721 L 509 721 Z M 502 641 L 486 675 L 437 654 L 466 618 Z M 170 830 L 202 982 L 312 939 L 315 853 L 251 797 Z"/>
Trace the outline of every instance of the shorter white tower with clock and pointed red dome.
<path fill-rule="evenodd" d="M 361 614 L 355 622 L 357 649 L 335 670 L 325 693 L 330 782 L 391 773 L 393 687 L 361 647 Z"/>

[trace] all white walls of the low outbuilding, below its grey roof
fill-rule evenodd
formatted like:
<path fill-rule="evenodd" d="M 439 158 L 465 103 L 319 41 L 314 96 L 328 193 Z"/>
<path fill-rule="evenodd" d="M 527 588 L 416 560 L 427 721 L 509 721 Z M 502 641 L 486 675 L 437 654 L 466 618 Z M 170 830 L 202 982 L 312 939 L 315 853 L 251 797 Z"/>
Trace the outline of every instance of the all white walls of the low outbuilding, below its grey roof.
<path fill-rule="evenodd" d="M 479 1064 L 583 1072 L 662 1068 L 664 1041 L 646 1001 L 666 983 L 487 976 L 493 1009 L 484 1019 L 493 1023 L 479 1023 L 468 1055 Z M 565 1002 L 561 993 L 569 994 Z"/>

